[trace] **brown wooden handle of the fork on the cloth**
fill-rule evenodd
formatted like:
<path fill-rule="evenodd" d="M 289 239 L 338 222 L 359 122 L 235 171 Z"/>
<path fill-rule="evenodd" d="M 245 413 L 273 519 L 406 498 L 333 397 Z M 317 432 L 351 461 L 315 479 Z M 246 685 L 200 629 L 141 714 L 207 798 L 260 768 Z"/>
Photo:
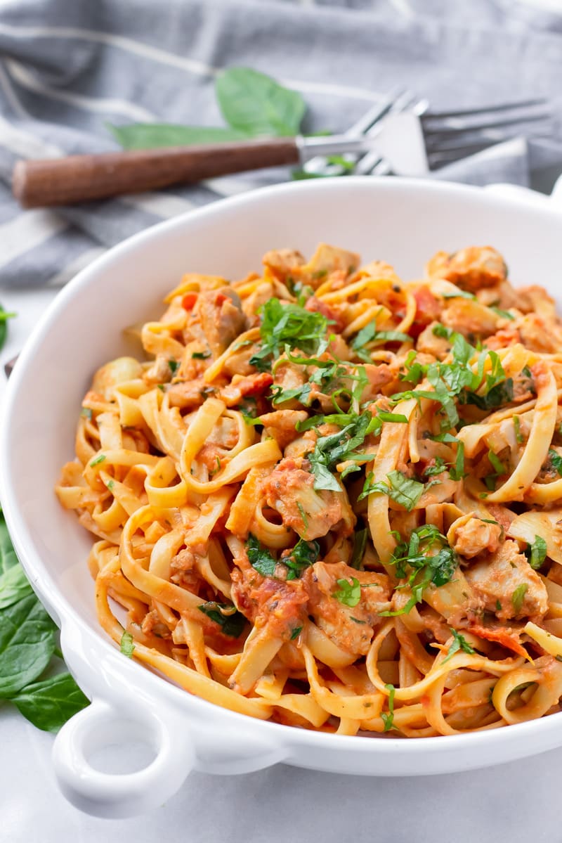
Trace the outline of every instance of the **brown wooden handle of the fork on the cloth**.
<path fill-rule="evenodd" d="M 26 208 L 71 205 L 298 161 L 293 137 L 72 155 L 18 161 L 12 190 Z"/>

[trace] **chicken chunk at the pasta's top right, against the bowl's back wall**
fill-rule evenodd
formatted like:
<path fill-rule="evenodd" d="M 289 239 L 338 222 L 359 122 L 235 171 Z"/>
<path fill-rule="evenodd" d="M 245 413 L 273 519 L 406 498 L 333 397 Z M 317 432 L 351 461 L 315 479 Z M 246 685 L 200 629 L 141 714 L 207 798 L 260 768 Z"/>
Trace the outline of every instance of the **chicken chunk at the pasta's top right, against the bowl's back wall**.
<path fill-rule="evenodd" d="M 491 246 L 468 246 L 448 255 L 437 252 L 426 266 L 430 278 L 446 278 L 462 290 L 476 293 L 481 287 L 494 287 L 507 277 L 507 266 Z"/>

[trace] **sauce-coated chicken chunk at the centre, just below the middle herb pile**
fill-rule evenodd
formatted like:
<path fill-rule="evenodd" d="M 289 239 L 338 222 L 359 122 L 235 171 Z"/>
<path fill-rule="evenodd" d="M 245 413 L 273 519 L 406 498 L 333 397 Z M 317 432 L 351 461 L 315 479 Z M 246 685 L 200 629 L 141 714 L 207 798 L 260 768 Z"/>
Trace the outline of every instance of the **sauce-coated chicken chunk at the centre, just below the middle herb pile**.
<path fill-rule="evenodd" d="M 305 463 L 308 464 L 308 463 Z M 302 539 L 318 539 L 343 522 L 342 534 L 350 535 L 356 523 L 346 491 L 316 491 L 314 477 L 302 470 L 302 459 L 281 459 L 265 484 L 265 499 Z"/>

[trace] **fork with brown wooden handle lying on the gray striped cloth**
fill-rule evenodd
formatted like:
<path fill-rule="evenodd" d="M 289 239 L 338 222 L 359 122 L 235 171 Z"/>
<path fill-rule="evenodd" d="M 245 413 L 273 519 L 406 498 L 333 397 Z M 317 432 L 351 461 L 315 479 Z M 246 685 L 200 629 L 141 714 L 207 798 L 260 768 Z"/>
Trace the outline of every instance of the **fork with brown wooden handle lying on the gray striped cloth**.
<path fill-rule="evenodd" d="M 12 189 L 24 207 L 51 207 L 153 191 L 280 164 L 306 167 L 307 161 L 318 156 L 342 156 L 344 163 L 349 161 L 355 172 L 363 175 L 426 175 L 430 169 L 513 137 L 515 126 L 549 119 L 549 112 L 534 110 L 544 105 L 544 99 L 528 99 L 431 114 L 426 100 L 416 101 L 412 94 L 403 92 L 372 107 L 344 135 L 265 137 L 205 146 L 24 160 L 15 165 Z M 350 168 L 340 167 L 343 172 L 347 169 Z M 339 174 L 337 166 L 336 171 L 324 172 L 323 165 L 316 161 L 308 175 Z"/>

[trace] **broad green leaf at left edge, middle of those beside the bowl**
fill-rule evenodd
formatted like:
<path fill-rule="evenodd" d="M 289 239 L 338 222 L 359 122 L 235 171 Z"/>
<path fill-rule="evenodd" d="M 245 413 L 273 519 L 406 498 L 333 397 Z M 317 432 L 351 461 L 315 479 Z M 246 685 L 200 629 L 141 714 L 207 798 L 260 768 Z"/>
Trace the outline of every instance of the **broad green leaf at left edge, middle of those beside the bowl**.
<path fill-rule="evenodd" d="M 35 594 L 0 611 L 0 697 L 10 697 L 45 670 L 56 626 Z"/>

